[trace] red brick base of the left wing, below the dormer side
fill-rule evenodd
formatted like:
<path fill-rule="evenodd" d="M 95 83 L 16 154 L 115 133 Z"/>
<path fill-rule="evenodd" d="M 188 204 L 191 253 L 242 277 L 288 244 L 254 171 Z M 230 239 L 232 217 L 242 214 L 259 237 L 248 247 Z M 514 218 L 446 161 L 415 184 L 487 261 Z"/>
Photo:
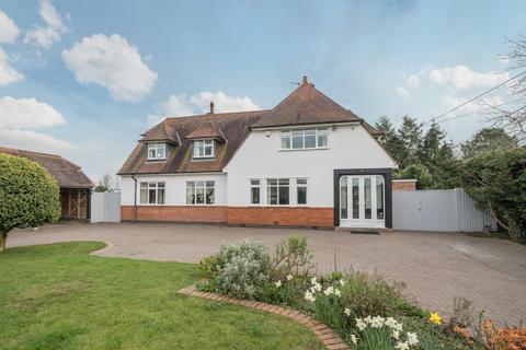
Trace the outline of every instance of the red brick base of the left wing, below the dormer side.
<path fill-rule="evenodd" d="M 121 220 L 134 220 L 134 206 L 121 207 Z M 138 206 L 137 220 L 225 223 L 227 211 L 216 206 Z"/>

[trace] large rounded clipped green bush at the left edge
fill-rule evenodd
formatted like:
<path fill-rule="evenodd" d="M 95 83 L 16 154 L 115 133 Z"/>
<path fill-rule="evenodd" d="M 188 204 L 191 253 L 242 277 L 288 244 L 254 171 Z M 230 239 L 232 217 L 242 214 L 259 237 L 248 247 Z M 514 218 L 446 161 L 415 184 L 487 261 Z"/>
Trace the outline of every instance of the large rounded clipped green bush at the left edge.
<path fill-rule="evenodd" d="M 59 188 L 41 165 L 0 154 L 0 252 L 14 228 L 39 226 L 60 217 Z"/>

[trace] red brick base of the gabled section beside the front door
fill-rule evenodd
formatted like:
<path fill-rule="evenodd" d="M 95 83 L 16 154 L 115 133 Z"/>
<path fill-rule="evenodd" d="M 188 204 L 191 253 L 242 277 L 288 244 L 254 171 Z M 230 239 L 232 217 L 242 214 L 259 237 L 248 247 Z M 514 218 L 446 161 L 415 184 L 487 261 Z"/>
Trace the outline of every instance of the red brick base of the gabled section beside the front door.
<path fill-rule="evenodd" d="M 332 208 L 228 207 L 228 224 L 334 226 Z"/>

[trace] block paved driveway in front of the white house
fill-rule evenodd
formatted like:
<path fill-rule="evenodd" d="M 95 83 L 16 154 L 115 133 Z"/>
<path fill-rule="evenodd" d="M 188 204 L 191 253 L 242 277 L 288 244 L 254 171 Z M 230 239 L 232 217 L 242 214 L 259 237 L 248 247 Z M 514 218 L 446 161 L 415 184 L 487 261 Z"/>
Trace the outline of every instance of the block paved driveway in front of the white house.
<path fill-rule="evenodd" d="M 251 238 L 267 243 L 273 250 L 276 242 L 291 234 L 308 237 L 320 272 L 332 270 L 336 260 L 340 270 L 376 270 L 405 282 L 408 298 L 446 316 L 455 296 L 466 296 L 496 322 L 516 325 L 526 320 L 526 246 L 496 238 L 427 232 L 358 235 L 216 225 L 64 223 L 38 231 L 12 231 L 8 247 L 104 241 L 108 246 L 96 255 L 197 262 L 222 243 Z"/>

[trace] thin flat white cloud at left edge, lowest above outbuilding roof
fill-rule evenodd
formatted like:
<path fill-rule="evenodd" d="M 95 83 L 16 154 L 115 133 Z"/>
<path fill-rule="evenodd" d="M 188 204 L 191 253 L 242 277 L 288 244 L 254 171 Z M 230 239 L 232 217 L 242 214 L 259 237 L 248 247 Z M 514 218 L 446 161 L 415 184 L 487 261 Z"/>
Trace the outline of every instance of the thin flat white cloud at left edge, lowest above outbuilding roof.
<path fill-rule="evenodd" d="M 2 140 L 2 145 L 46 152 L 73 148 L 73 145 L 67 141 L 47 133 L 31 130 L 0 129 L 0 140 Z"/>

